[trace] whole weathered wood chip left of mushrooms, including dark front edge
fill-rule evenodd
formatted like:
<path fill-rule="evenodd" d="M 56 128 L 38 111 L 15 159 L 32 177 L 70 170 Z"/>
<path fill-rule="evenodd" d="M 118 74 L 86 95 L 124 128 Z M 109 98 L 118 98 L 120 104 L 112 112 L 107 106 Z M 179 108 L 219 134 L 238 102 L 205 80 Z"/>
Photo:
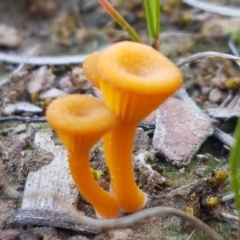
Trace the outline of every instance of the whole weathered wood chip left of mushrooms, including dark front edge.
<path fill-rule="evenodd" d="M 83 226 L 68 216 L 65 208 L 48 194 L 56 193 L 66 202 L 77 204 L 78 190 L 69 171 L 65 148 L 55 145 L 50 133 L 36 133 L 34 143 L 37 147 L 51 152 L 54 157 L 50 164 L 28 174 L 22 207 L 14 222 L 22 225 L 60 227 L 85 234 L 99 233 L 99 229 Z"/>

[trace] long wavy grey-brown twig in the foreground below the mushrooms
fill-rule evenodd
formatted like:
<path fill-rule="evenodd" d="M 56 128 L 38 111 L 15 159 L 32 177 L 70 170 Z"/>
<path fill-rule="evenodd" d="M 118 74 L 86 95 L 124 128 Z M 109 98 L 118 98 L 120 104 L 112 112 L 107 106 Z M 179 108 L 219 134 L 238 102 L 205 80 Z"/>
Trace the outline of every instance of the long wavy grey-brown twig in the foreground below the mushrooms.
<path fill-rule="evenodd" d="M 223 240 L 223 238 L 215 232 L 212 228 L 210 228 L 207 224 L 202 222 L 196 217 L 190 216 L 184 213 L 182 210 L 171 208 L 171 207 L 153 207 L 149 209 L 144 209 L 139 212 L 133 213 L 131 215 L 117 218 L 117 219 L 93 219 L 81 214 L 78 214 L 76 209 L 68 204 L 63 198 L 58 196 L 55 193 L 47 192 L 47 191 L 38 191 L 33 194 L 29 194 L 26 197 L 37 197 L 39 194 L 46 194 L 49 197 L 52 197 L 57 203 L 61 204 L 69 214 L 71 214 L 79 223 L 86 224 L 91 227 L 101 228 L 101 229 L 112 229 L 112 228 L 124 228 L 131 226 L 132 224 L 143 220 L 144 218 L 148 218 L 156 215 L 175 215 L 182 218 L 185 221 L 190 222 L 196 228 L 200 228 L 214 240 Z"/>

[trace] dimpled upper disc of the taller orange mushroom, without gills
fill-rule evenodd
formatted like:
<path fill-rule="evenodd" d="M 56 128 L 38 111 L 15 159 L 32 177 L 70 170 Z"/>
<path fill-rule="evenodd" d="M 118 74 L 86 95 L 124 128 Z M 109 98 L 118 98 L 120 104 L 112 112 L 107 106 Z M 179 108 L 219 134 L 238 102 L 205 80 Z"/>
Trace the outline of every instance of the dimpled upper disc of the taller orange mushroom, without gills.
<path fill-rule="evenodd" d="M 179 69 L 152 47 L 130 41 L 116 43 L 98 56 L 102 81 L 128 92 L 171 95 L 182 84 Z"/>

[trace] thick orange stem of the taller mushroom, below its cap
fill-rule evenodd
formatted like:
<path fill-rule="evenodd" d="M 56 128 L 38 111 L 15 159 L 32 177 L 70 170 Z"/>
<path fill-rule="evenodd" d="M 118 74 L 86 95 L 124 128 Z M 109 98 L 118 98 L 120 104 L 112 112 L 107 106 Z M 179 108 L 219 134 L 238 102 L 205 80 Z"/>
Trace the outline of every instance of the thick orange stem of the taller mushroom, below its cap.
<path fill-rule="evenodd" d="M 147 201 L 145 193 L 135 182 L 132 146 L 136 125 L 116 127 L 103 137 L 105 158 L 111 175 L 111 187 L 119 205 L 128 213 L 142 209 Z"/>

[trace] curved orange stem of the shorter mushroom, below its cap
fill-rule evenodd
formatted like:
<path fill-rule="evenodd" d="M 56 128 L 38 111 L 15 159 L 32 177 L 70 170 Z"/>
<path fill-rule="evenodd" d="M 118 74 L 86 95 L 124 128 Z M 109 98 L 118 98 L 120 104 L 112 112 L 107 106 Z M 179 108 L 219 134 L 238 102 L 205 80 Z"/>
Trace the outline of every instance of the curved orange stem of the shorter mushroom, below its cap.
<path fill-rule="evenodd" d="M 94 206 L 96 214 L 104 218 L 118 217 L 119 204 L 116 198 L 104 191 L 94 179 L 88 152 L 69 152 L 69 166 L 79 192 Z"/>

